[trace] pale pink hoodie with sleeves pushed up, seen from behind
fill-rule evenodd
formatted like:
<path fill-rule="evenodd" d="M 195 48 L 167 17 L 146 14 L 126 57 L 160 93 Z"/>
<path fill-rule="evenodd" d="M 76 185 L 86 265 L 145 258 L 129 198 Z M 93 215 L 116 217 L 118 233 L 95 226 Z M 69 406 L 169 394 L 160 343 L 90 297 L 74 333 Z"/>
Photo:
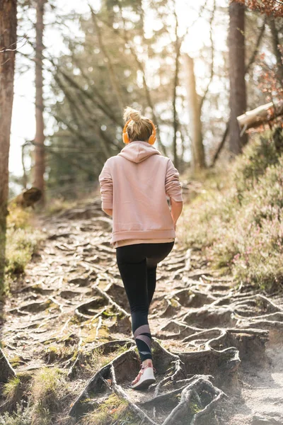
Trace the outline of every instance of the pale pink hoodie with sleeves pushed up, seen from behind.
<path fill-rule="evenodd" d="M 148 142 L 135 141 L 107 159 L 98 177 L 103 210 L 112 209 L 112 238 L 175 238 L 166 196 L 183 201 L 178 170 Z"/>

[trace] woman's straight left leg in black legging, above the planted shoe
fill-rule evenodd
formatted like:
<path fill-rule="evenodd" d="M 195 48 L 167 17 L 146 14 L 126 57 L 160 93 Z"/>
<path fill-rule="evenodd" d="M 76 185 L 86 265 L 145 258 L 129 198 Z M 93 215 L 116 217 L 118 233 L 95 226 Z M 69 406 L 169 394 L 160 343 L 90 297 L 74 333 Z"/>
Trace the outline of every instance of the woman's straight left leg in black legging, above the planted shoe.
<path fill-rule="evenodd" d="M 125 286 L 132 315 L 132 332 L 141 362 L 151 359 L 151 332 L 149 329 L 149 299 L 147 293 L 146 256 L 143 244 L 119 246 L 116 249 L 117 266 Z"/>

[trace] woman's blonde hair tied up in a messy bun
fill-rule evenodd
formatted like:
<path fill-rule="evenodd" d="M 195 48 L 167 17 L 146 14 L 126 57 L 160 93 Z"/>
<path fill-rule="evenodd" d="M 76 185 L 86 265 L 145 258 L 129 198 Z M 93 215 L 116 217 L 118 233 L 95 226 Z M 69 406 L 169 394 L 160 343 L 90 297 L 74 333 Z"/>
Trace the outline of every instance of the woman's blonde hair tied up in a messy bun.
<path fill-rule="evenodd" d="M 131 120 L 127 126 L 130 142 L 134 142 L 135 140 L 147 142 L 149 140 L 153 131 L 149 118 L 142 116 L 137 109 L 127 106 L 124 110 L 124 120 L 126 123 L 128 120 Z"/>

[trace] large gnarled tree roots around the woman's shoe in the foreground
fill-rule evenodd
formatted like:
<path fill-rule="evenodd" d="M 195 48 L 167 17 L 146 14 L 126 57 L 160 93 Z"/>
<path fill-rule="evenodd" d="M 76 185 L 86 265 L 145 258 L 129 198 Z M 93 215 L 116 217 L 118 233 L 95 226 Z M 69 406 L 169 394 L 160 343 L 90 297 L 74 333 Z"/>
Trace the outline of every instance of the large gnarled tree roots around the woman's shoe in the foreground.
<path fill-rule="evenodd" d="M 114 341 L 103 346 L 104 349 L 114 346 Z M 209 381 L 214 379 L 211 374 L 208 375 L 209 365 L 214 365 L 210 369 L 214 375 L 219 374 L 219 384 L 222 385 L 223 375 L 233 375 L 240 362 L 236 348 L 222 352 L 171 353 L 153 339 L 152 352 L 157 371 L 156 384 L 151 385 L 137 402 L 130 381 L 139 370 L 139 358 L 132 346 L 93 375 L 72 405 L 69 415 L 79 419 L 90 405 L 115 392 L 129 404 L 134 414 L 143 419 L 144 424 L 197 424 L 198 419 L 211 412 L 219 399 L 225 396 L 223 390 Z M 179 401 L 177 395 L 180 395 Z M 151 412 L 153 408 L 154 414 Z M 184 419 L 186 422 L 183 422 Z"/>

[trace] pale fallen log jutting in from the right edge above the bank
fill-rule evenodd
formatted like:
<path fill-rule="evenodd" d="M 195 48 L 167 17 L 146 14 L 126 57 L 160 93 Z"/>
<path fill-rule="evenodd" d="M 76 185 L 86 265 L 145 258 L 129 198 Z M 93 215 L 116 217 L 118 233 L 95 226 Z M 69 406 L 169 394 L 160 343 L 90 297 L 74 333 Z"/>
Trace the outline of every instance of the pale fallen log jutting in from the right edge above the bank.
<path fill-rule="evenodd" d="M 248 128 L 256 128 L 263 123 L 274 120 L 280 115 L 283 115 L 283 101 L 275 101 L 258 106 L 258 108 L 252 111 L 247 111 L 243 115 L 239 115 L 237 120 L 243 133 Z"/>

